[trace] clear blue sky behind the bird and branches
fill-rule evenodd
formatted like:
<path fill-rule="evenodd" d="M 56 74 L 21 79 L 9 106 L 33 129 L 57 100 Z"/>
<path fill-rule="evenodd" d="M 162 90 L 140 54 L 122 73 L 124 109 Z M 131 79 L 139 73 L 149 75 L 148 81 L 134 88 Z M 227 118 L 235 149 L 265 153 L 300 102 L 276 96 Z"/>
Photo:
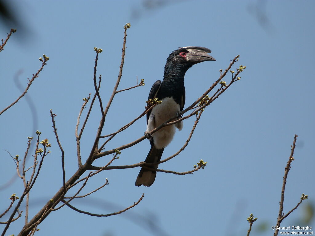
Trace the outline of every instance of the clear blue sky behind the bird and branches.
<path fill-rule="evenodd" d="M 314 206 L 314 10 L 313 1 L 13 1 L 25 32 L 12 36 L 0 53 L 1 107 L 20 95 L 14 77 L 26 85 L 43 54 L 49 61 L 34 81 L 27 98 L 0 116 L 1 183 L 15 173 L 7 152 L 23 156 L 27 137 L 42 132 L 52 144 L 40 178 L 30 193 L 30 216 L 37 213 L 61 187 L 60 150 L 55 142 L 49 110 L 56 117 L 66 157 L 66 177 L 76 171 L 74 136 L 82 98 L 93 93 L 94 47 L 102 48 L 98 74 L 102 75 L 103 102 L 109 98 L 120 65 L 123 25 L 130 22 L 123 77 L 119 89 L 146 85 L 117 94 L 106 118 L 103 134 L 133 120 L 145 106 L 151 85 L 163 78 L 168 54 L 183 46 L 212 50 L 215 62 L 194 65 L 185 76 L 186 106 L 195 101 L 240 54 L 237 65 L 246 65 L 242 78 L 203 113 L 187 148 L 160 165 L 173 171 L 191 170 L 200 159 L 204 170 L 178 176 L 157 173 L 149 187 L 135 187 L 139 168 L 104 171 L 83 190 L 88 193 L 108 178 L 110 185 L 72 204 L 99 214 L 119 211 L 144 199 L 135 208 L 106 218 L 86 216 L 62 208 L 51 213 L 38 228 L 42 235 L 245 235 L 250 213 L 258 217 L 251 235 L 271 235 L 278 215 L 284 167 L 294 134 L 299 135 L 295 161 L 287 179 L 284 212 L 302 193 L 309 199 L 282 222 L 299 225 L 306 206 Z M 152 5 L 148 3 L 153 3 Z M 13 27 L 13 26 L 12 26 Z M 0 23 L 0 38 L 11 26 Z M 236 68 L 234 68 L 235 70 Z M 235 70 L 236 71 L 236 70 Z M 229 76 L 228 76 L 229 77 Z M 226 80 L 228 80 L 226 77 Z M 27 99 L 35 104 L 36 113 Z M 2 110 L 2 109 L 1 109 Z M 33 125 L 33 121 L 37 120 Z M 86 157 L 99 124 L 95 106 L 82 138 Z M 185 143 L 194 120 L 165 149 L 168 157 Z M 106 149 L 141 137 L 145 118 L 114 138 Z M 122 151 L 115 165 L 143 161 L 150 149 L 144 140 Z M 111 157 L 97 160 L 105 165 Z M 30 158 L 31 159 L 31 158 Z M 28 162 L 31 165 L 31 160 Z M 0 191 L 0 209 L 9 196 L 21 194 L 15 180 Z M 75 192 L 75 190 L 73 190 Z M 69 193 L 68 195 L 70 195 Z M 309 208 L 308 208 L 309 209 Z M 24 220 L 12 223 L 7 235 L 17 235 Z M 151 223 L 153 222 L 153 226 Z M 314 218 L 307 223 L 315 227 Z M 259 228 L 265 226 L 265 230 Z M 303 225 L 304 226 L 304 225 Z M 2 228 L 3 226 L 0 226 Z"/>

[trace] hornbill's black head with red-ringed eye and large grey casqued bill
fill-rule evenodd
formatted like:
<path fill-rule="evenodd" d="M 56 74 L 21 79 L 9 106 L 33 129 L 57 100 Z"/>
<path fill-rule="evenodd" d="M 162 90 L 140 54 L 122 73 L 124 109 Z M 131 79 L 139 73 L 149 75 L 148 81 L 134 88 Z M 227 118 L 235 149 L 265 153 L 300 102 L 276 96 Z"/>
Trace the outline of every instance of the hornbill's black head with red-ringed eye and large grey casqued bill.
<path fill-rule="evenodd" d="M 203 61 L 215 61 L 210 56 L 211 50 L 204 47 L 183 47 L 171 52 L 166 60 L 164 76 L 173 69 L 182 69 L 185 73 L 193 65 Z M 176 70 L 175 69 L 175 70 Z"/>

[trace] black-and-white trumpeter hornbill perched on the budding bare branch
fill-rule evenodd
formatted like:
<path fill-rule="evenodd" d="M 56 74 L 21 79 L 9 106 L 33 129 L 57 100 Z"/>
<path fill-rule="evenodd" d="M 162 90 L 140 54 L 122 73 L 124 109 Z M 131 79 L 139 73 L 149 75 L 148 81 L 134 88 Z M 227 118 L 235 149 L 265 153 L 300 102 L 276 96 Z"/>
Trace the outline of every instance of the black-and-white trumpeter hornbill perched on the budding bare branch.
<path fill-rule="evenodd" d="M 155 105 L 151 112 L 146 115 L 147 128 L 146 138 L 150 139 L 151 149 L 146 157 L 146 163 L 155 163 L 161 160 L 164 148 L 172 141 L 175 134 L 175 127 L 179 130 L 183 127 L 180 121 L 175 125 L 165 126 L 157 132 L 150 134 L 150 131 L 165 121 L 177 115 L 182 116 L 181 111 L 185 105 L 184 76 L 186 71 L 199 62 L 215 61 L 208 55 L 211 50 L 203 47 L 179 48 L 169 54 L 164 67 L 164 78 L 161 82 L 156 81 L 150 90 L 149 99 L 157 98 L 161 104 Z M 175 119 L 176 120 L 176 119 Z M 158 165 L 148 166 L 157 169 Z M 151 186 L 155 180 L 156 171 L 142 167 L 136 179 L 136 186 Z"/>

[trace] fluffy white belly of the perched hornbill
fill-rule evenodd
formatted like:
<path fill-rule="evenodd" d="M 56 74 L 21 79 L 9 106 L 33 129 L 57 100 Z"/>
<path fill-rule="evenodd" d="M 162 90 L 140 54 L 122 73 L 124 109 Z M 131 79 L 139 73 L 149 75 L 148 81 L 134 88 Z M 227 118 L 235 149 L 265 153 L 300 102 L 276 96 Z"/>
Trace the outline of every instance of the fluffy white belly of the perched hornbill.
<path fill-rule="evenodd" d="M 146 131 L 151 131 L 165 121 L 174 117 L 180 111 L 180 106 L 173 98 L 164 98 L 162 103 L 153 107 Z M 176 127 L 181 130 L 182 121 L 176 124 Z M 157 149 L 165 148 L 173 140 L 175 134 L 175 125 L 165 126 L 155 132 L 152 137 Z"/>

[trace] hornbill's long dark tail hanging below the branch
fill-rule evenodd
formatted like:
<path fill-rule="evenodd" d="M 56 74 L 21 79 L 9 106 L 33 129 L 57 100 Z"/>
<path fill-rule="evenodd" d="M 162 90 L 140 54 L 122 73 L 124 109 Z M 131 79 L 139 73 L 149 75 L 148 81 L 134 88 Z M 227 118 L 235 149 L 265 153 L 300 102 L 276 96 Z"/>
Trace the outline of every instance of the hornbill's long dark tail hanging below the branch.
<path fill-rule="evenodd" d="M 164 151 L 164 148 L 157 149 L 155 147 L 155 145 L 153 144 L 151 146 L 151 149 L 150 149 L 148 155 L 146 156 L 145 162 L 146 163 L 154 163 L 154 162 L 160 161 L 163 151 Z M 157 169 L 158 165 L 148 166 L 148 167 Z M 149 187 L 153 184 L 156 175 L 157 175 L 156 171 L 150 171 L 150 170 L 146 169 L 145 167 L 142 167 L 140 172 L 139 172 L 139 175 L 136 179 L 135 185 L 136 186 L 144 185 L 144 186 Z"/>

